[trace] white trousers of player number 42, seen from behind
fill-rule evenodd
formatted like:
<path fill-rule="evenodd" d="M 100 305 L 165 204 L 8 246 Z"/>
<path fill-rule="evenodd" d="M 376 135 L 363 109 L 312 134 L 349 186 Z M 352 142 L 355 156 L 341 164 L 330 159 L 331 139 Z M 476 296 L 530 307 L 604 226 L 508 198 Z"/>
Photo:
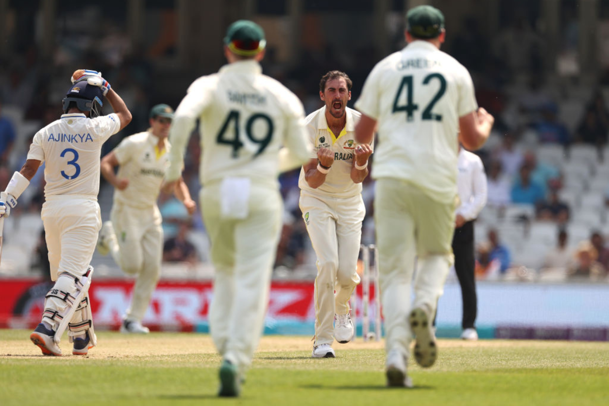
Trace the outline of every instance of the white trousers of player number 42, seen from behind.
<path fill-rule="evenodd" d="M 454 262 L 451 248 L 454 208 L 453 201 L 433 200 L 407 181 L 394 178 L 376 181 L 376 247 L 387 352 L 397 349 L 408 356 L 412 332 L 407 320 L 412 308 L 425 306 L 431 317 L 435 314 Z M 415 256 L 418 256 L 415 298 L 411 305 Z"/>

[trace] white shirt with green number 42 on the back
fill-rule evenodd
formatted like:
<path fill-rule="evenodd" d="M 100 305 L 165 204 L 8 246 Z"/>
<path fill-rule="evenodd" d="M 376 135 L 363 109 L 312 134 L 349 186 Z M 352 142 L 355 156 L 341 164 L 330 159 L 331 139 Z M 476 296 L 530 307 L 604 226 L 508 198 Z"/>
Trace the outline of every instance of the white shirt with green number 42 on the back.
<path fill-rule="evenodd" d="M 414 41 L 370 72 L 357 110 L 378 122 L 372 177 L 407 180 L 452 202 L 459 117 L 477 109 L 467 69 L 427 41 Z"/>

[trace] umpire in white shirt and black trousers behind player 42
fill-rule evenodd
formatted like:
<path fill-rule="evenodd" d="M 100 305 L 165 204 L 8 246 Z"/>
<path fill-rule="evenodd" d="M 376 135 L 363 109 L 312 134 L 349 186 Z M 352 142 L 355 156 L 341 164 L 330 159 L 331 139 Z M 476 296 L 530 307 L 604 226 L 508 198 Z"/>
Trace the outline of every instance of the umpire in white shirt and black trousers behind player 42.
<path fill-rule="evenodd" d="M 457 192 L 460 205 L 455 212 L 455 233 L 452 237 L 452 251 L 455 256 L 455 271 L 461 285 L 463 298 L 463 340 L 477 340 L 476 321 L 477 298 L 474 278 L 474 220 L 487 203 L 487 176 L 479 156 L 459 147 L 457 164 Z"/>

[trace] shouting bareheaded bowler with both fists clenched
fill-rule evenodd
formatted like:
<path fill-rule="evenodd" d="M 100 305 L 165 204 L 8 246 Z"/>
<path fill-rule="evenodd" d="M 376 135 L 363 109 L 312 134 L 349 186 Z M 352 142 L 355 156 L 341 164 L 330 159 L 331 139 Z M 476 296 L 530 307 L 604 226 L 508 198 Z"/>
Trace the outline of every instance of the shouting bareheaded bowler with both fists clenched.
<path fill-rule="evenodd" d="M 348 343 L 354 333 L 349 299 L 359 284 L 357 257 L 366 214 L 361 183 L 368 175 L 372 147 L 354 141 L 360 114 L 347 107 L 351 86 L 344 72 L 323 75 L 319 97 L 325 105 L 306 117 L 312 157 L 317 159 L 300 170 L 298 186 L 300 209 L 317 254 L 314 358 L 333 358 L 334 338 Z"/>

